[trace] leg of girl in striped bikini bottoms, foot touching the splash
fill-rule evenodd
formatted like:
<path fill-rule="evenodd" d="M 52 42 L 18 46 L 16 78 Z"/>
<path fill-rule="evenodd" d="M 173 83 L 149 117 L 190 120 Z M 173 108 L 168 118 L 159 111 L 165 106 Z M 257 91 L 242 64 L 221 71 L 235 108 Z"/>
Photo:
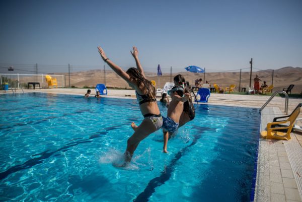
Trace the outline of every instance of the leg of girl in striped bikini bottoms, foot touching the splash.
<path fill-rule="evenodd" d="M 125 152 L 125 162 L 129 163 L 140 141 L 145 139 L 149 134 L 156 131 L 156 128 L 150 119 L 144 119 L 136 128 L 135 132 L 127 141 L 127 149 Z"/>

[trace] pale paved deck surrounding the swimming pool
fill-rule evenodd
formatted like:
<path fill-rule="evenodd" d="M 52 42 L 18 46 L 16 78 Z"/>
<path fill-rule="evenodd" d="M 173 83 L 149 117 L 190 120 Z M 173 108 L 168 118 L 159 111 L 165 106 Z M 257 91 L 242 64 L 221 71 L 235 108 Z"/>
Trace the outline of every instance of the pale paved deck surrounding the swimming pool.
<path fill-rule="evenodd" d="M 82 95 L 87 89 L 25 89 L 24 92 L 43 92 Z M 7 91 L 12 93 L 12 90 Z M 23 93 L 17 90 L 17 93 Z M 92 89 L 92 96 L 94 96 Z M 0 94 L 5 94 L 2 90 Z M 108 89 L 107 97 L 135 98 L 134 90 Z M 236 95 L 236 94 L 211 94 L 207 104 L 255 107 L 261 108 L 269 99 L 262 95 Z M 290 98 L 288 114 L 302 102 L 302 99 Z M 274 117 L 284 115 L 285 99 L 274 97 L 270 104 L 264 108 L 261 114 L 261 130 L 265 130 L 266 124 Z M 302 118 L 300 113 L 299 118 Z M 302 125 L 302 122 L 298 122 Z M 258 135 L 258 134 L 255 134 Z M 291 133 L 291 140 L 262 140 L 259 141 L 257 180 L 254 201 L 302 201 L 302 133 Z"/>

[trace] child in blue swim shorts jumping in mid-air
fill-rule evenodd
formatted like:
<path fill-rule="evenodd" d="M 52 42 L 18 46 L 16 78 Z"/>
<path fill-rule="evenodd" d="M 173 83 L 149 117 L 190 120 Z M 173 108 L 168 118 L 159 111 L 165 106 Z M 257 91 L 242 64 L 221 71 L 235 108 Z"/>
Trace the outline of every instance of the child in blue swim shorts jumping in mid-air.
<path fill-rule="evenodd" d="M 190 98 L 189 91 L 185 91 L 185 78 L 182 75 L 174 77 L 175 86 L 169 92 L 172 101 L 169 104 L 167 118 L 163 118 L 164 148 L 163 152 L 168 153 L 167 144 L 169 132 L 174 133 L 180 124 L 180 117 L 184 111 L 184 103 Z M 184 124 L 183 122 L 181 122 Z"/>

